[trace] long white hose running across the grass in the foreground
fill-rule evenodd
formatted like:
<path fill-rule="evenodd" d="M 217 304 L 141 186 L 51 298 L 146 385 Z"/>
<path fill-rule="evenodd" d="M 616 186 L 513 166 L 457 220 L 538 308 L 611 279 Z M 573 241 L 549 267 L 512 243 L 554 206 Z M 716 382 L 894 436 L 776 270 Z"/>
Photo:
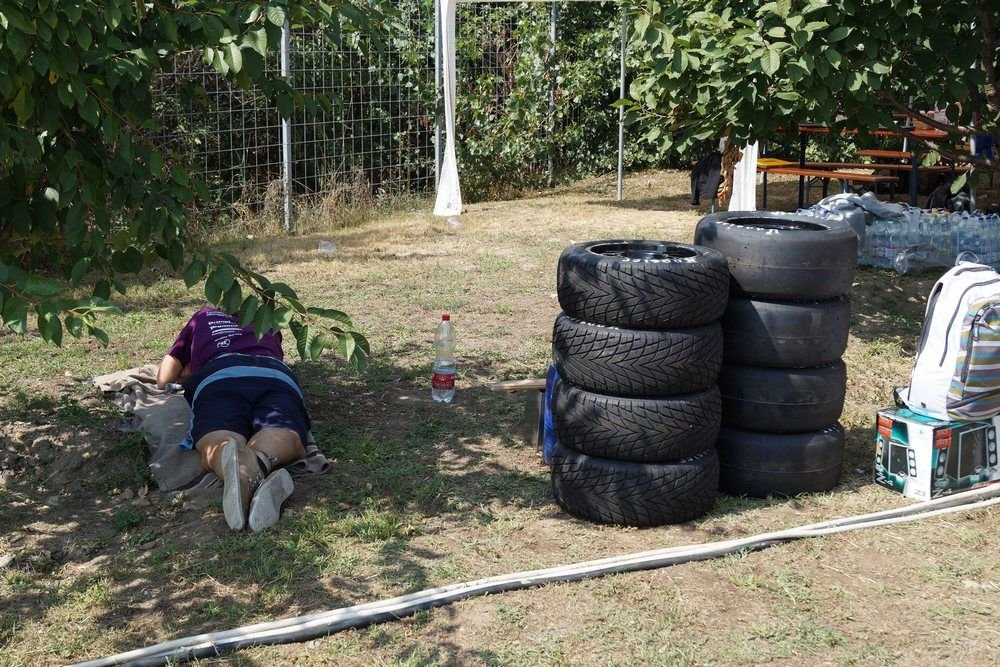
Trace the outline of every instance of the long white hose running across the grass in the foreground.
<path fill-rule="evenodd" d="M 745 550 L 763 549 L 775 544 L 806 537 L 833 535 L 860 528 L 890 526 L 934 516 L 964 512 L 1000 504 L 1000 484 L 963 491 L 916 505 L 845 517 L 736 540 L 724 540 L 690 546 L 655 549 L 626 556 L 561 565 L 543 570 L 478 579 L 400 595 L 389 600 L 343 607 L 331 611 L 297 616 L 280 621 L 258 623 L 233 630 L 210 632 L 156 644 L 126 653 L 79 663 L 75 667 L 108 665 L 164 665 L 178 660 L 192 660 L 221 655 L 250 646 L 306 641 L 325 635 L 381 623 L 414 614 L 422 609 L 502 591 L 531 588 L 544 584 L 577 581 L 591 577 L 636 570 L 648 570 L 677 563 L 717 558 Z"/>

